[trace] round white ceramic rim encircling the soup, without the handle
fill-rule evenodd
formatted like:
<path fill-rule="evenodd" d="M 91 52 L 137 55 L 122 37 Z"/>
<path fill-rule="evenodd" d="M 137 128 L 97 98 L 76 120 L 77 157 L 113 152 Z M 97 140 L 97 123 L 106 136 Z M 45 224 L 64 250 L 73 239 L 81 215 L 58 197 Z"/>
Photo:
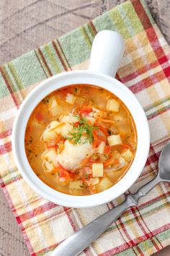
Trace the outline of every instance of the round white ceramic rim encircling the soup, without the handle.
<path fill-rule="evenodd" d="M 100 192 L 94 195 L 67 195 L 48 187 L 48 185 L 43 183 L 37 177 L 37 175 L 30 167 L 30 164 L 27 161 L 25 150 L 23 148 L 23 135 L 27 125 L 27 121 L 30 117 L 30 114 L 32 113 L 32 110 L 35 108 L 35 106 L 37 106 L 37 103 L 39 103 L 42 98 L 45 97 L 45 95 L 50 94 L 58 88 L 63 88 L 67 85 L 76 84 L 97 85 L 100 88 L 105 88 L 111 91 L 111 93 L 114 93 L 115 95 L 122 92 L 122 97 L 120 97 L 120 95 L 117 95 L 117 97 L 119 97 L 126 106 L 127 103 L 129 104 L 129 106 L 127 107 L 129 110 L 131 108 L 130 113 L 132 114 L 135 121 L 135 127 L 138 136 L 138 144 L 135 158 L 127 173 L 122 177 L 122 179 L 120 179 L 119 182 L 117 182 L 117 184 L 105 190 L 104 192 Z M 47 90 L 48 93 L 45 93 L 47 92 Z M 123 97 L 125 97 L 125 100 L 122 99 Z M 131 103 L 135 104 L 133 113 L 133 106 L 130 107 Z M 135 114 L 135 112 L 138 113 Z M 26 118 L 24 119 L 22 119 L 23 114 L 24 116 L 26 116 Z M 141 124 L 143 125 L 143 129 L 140 130 Z M 145 140 L 143 139 L 143 136 L 145 136 Z M 50 200 L 51 202 L 55 202 L 58 205 L 63 205 L 66 207 L 86 208 L 96 205 L 102 205 L 103 203 L 110 202 L 122 195 L 135 183 L 136 179 L 138 179 L 138 176 L 140 176 L 140 173 L 143 171 L 146 160 L 148 158 L 149 148 L 150 133 L 148 127 L 148 120 L 142 106 L 140 106 L 137 98 L 135 98 L 135 95 L 125 85 L 123 85 L 122 82 L 116 80 L 114 77 L 110 77 L 106 74 L 99 74 L 98 72 L 89 72 L 88 70 L 63 72 L 61 74 L 55 74 L 53 77 L 50 77 L 43 82 L 40 82 L 40 84 L 36 88 L 34 88 L 32 92 L 29 93 L 29 95 L 27 95 L 27 97 L 22 102 L 19 111 L 17 112 L 17 116 L 14 119 L 14 124 L 12 128 L 12 151 L 14 154 L 14 160 L 17 163 L 17 167 L 20 174 L 22 174 L 23 179 L 27 182 L 27 184 L 30 185 L 30 187 L 32 187 L 32 189 L 35 190 L 35 192 L 37 192 L 42 197 L 45 197 L 46 199 Z M 142 154 L 140 152 L 142 152 Z"/>

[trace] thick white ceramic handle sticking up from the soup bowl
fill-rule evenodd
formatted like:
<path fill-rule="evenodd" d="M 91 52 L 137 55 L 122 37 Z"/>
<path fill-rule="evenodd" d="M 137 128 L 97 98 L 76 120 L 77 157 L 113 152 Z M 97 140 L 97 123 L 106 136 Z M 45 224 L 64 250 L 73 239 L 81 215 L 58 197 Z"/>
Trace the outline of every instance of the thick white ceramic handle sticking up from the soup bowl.
<path fill-rule="evenodd" d="M 124 40 L 119 33 L 112 30 L 97 33 L 91 48 L 89 71 L 115 77 L 124 47 Z"/>

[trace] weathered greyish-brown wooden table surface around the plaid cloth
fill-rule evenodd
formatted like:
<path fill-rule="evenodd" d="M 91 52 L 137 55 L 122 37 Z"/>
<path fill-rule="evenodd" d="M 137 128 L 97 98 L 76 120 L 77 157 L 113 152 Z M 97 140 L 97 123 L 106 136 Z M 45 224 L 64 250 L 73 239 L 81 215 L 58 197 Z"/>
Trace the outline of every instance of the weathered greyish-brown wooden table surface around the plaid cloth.
<path fill-rule="evenodd" d="M 125 0 L 0 0 L 0 64 L 48 42 Z M 170 0 L 146 0 L 170 43 Z M 0 189 L 0 256 L 30 255 Z M 156 256 L 169 256 L 166 247 Z M 66 256 L 66 255 L 63 255 Z"/>

